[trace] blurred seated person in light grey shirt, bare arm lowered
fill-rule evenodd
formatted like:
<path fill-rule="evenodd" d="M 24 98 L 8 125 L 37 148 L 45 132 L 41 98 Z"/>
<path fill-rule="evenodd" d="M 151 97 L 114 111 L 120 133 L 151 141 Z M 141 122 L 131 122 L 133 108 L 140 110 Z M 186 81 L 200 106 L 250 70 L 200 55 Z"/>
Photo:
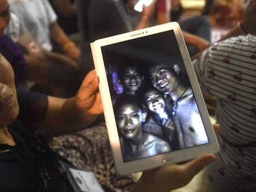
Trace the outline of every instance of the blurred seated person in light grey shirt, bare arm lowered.
<path fill-rule="evenodd" d="M 24 25 L 30 31 L 30 35 L 41 48 L 53 52 L 56 57 L 61 54 L 79 61 L 80 49 L 59 26 L 57 15 L 48 1 L 8 0 L 8 2 L 9 9 L 19 17 L 20 25 Z M 55 50 L 54 43 L 56 43 Z M 79 67 L 79 64 L 76 62 L 76 66 L 73 67 Z"/>

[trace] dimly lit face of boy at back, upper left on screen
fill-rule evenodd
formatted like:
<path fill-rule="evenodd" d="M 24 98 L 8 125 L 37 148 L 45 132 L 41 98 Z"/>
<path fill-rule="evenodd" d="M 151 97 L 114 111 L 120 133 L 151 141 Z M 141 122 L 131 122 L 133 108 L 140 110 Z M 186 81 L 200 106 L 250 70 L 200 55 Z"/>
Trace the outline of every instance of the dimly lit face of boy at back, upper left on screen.
<path fill-rule="evenodd" d="M 124 70 L 123 86 L 125 90 L 137 91 L 142 85 L 142 76 L 136 67 L 127 67 Z"/>

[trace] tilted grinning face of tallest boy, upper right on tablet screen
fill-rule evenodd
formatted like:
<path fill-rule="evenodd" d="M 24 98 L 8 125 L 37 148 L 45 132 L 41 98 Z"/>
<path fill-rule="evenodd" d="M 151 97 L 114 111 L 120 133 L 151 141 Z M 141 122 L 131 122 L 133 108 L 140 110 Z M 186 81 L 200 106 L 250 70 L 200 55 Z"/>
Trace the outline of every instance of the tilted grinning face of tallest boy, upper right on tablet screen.
<path fill-rule="evenodd" d="M 174 93 L 178 86 L 174 74 L 160 65 L 150 69 L 150 81 L 157 90 L 164 94 Z"/>

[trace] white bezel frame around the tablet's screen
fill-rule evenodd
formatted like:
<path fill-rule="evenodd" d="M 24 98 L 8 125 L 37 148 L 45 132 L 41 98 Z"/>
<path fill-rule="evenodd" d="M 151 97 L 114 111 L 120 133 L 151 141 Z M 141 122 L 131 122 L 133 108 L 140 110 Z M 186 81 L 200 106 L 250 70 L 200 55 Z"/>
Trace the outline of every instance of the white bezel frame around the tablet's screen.
<path fill-rule="evenodd" d="M 191 88 L 194 93 L 195 100 L 197 101 L 198 110 L 202 116 L 203 124 L 208 136 L 209 143 L 194 146 L 192 148 L 186 148 L 177 151 L 171 151 L 165 154 L 158 154 L 153 157 L 145 157 L 143 159 L 137 159 L 135 161 L 124 162 L 122 159 L 121 144 L 119 141 L 119 134 L 116 126 L 116 119 L 114 117 L 113 104 L 111 99 L 111 93 L 109 91 L 108 78 L 106 75 L 105 64 L 103 61 L 103 54 L 101 47 L 109 44 L 120 43 L 124 41 L 134 40 L 143 36 L 154 35 L 163 31 L 173 30 L 176 36 L 179 51 L 184 62 L 184 66 L 187 71 L 187 76 L 191 84 Z M 218 141 L 216 135 L 211 126 L 210 117 L 207 112 L 207 107 L 203 101 L 202 92 L 199 88 L 197 78 L 195 76 L 192 62 L 187 51 L 184 38 L 182 36 L 181 28 L 177 22 L 165 23 L 163 25 L 156 25 L 154 27 L 144 28 L 142 30 L 130 31 L 128 33 L 122 33 L 120 35 L 110 36 L 96 40 L 90 44 L 92 49 L 93 62 L 95 64 L 96 74 L 100 78 L 99 90 L 101 94 L 101 100 L 103 103 L 103 111 L 105 115 L 106 127 L 108 129 L 109 143 L 113 152 L 114 162 L 117 172 L 121 175 L 127 173 L 139 172 L 142 170 L 152 169 L 161 165 L 187 161 L 193 159 L 203 153 L 216 153 L 219 150 Z"/>

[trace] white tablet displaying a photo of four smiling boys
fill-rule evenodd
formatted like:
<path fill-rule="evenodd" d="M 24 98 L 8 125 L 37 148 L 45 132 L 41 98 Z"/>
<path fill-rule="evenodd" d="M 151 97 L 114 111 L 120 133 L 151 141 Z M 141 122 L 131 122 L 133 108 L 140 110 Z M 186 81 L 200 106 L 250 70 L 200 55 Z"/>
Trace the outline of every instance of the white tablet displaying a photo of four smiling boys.
<path fill-rule="evenodd" d="M 90 44 L 121 175 L 219 150 L 179 24 Z"/>

